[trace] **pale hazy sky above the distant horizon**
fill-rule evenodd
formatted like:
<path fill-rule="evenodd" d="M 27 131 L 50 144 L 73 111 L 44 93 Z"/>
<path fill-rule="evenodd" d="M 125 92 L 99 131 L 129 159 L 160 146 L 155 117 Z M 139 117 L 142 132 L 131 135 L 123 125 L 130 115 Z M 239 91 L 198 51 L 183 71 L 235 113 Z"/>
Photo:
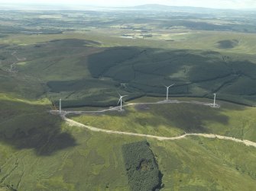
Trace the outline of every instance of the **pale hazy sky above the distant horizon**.
<path fill-rule="evenodd" d="M 1 3 L 50 3 L 96 6 L 133 6 L 144 4 L 162 4 L 173 6 L 194 6 L 206 8 L 256 8 L 256 0 L 0 0 Z"/>

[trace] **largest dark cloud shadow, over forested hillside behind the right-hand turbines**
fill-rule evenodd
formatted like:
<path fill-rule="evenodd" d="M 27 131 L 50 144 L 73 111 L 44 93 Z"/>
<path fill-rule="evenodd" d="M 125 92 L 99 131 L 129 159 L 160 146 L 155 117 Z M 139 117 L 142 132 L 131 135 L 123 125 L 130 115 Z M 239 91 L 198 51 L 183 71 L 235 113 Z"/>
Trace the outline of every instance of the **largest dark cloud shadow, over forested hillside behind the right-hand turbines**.
<path fill-rule="evenodd" d="M 125 91 L 164 96 L 164 84 L 175 84 L 170 96 L 217 92 L 218 98 L 249 105 L 256 97 L 256 65 L 242 55 L 120 46 L 88 56 L 88 68 L 94 78 L 124 83 Z"/>

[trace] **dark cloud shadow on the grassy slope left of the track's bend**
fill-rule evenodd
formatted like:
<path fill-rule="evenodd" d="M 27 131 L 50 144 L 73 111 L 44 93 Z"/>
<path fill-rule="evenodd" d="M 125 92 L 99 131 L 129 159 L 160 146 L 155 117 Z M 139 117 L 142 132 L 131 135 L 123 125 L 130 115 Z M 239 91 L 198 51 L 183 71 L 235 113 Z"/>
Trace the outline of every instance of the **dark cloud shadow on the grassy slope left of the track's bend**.
<path fill-rule="evenodd" d="M 1 101 L 0 142 L 17 149 L 33 148 L 37 155 L 51 155 L 74 147 L 76 140 L 61 129 L 61 119 L 46 107 Z"/>

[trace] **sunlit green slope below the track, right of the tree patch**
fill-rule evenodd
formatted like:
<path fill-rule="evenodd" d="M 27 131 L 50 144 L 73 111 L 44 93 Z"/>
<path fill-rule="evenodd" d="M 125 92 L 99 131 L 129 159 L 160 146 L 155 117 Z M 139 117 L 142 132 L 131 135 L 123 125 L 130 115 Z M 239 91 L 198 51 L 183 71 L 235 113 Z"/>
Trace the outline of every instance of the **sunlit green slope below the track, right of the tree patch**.
<path fill-rule="evenodd" d="M 161 173 L 161 190 L 253 190 L 255 148 L 214 138 L 150 141 Z"/>

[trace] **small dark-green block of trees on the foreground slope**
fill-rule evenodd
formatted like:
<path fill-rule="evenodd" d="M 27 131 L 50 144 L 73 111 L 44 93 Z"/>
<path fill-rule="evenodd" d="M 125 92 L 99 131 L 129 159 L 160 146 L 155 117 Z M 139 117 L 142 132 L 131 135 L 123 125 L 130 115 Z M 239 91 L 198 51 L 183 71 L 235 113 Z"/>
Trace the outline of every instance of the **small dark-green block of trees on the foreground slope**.
<path fill-rule="evenodd" d="M 125 169 L 131 190 L 159 190 L 163 174 L 146 141 L 122 146 Z"/>

